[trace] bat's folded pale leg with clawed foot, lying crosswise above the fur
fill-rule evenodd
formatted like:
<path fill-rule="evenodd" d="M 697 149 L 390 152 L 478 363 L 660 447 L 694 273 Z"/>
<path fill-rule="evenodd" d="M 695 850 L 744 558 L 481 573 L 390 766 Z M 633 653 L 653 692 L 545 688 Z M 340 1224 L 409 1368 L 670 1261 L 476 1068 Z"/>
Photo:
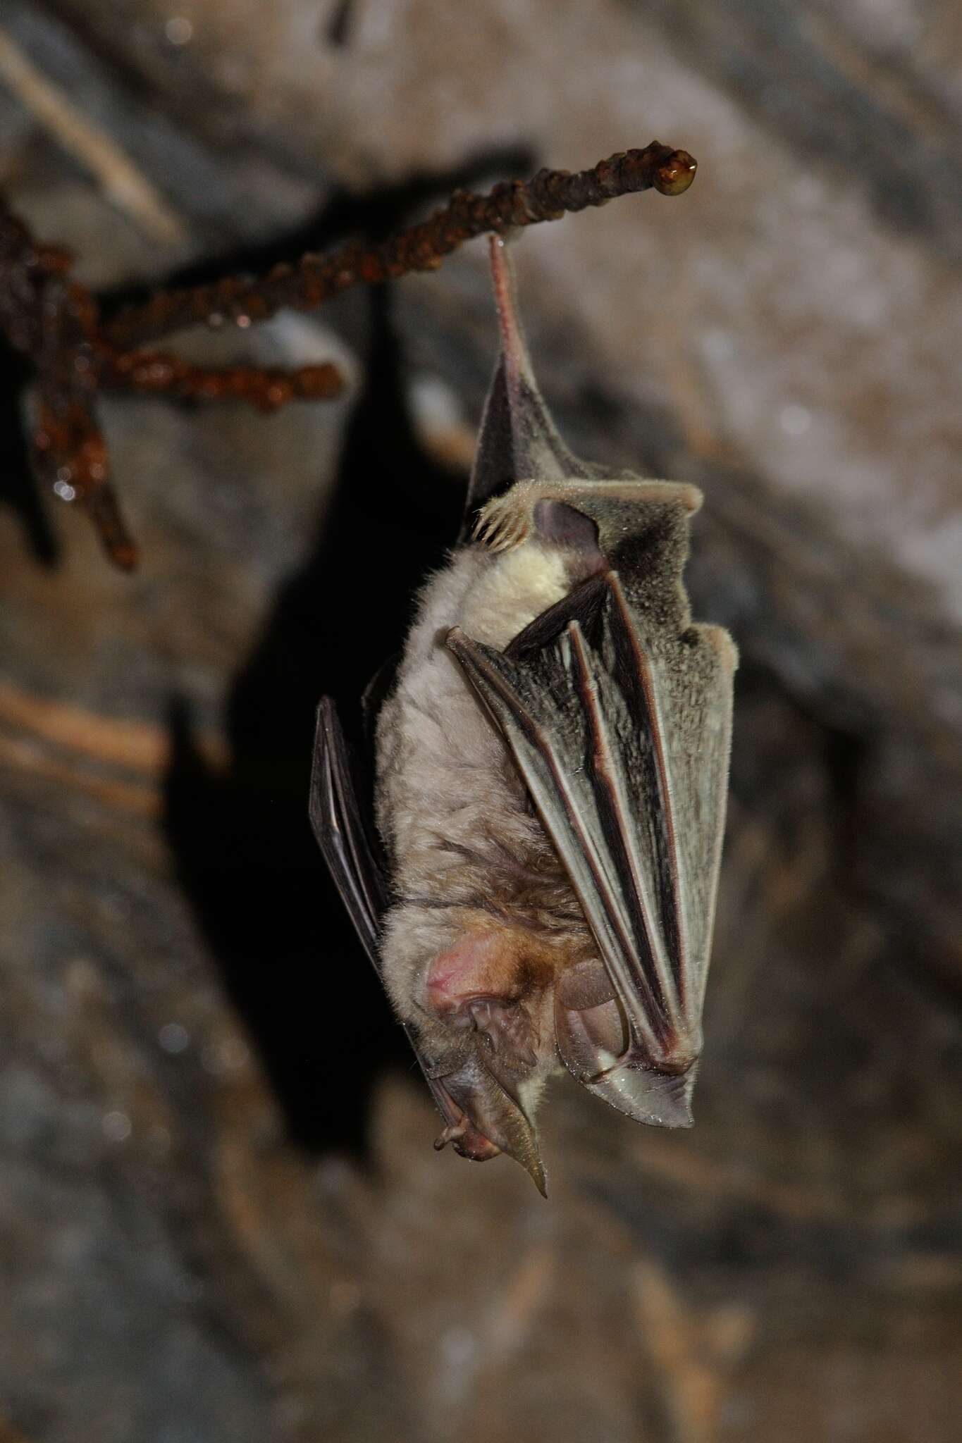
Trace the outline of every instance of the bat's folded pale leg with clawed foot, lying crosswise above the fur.
<path fill-rule="evenodd" d="M 596 501 L 623 501 L 643 506 L 681 502 L 697 511 L 701 492 L 676 481 L 519 481 L 503 496 L 482 506 L 475 525 L 475 540 L 489 551 L 511 551 L 529 540 L 578 548 L 583 543 L 571 512 Z"/>

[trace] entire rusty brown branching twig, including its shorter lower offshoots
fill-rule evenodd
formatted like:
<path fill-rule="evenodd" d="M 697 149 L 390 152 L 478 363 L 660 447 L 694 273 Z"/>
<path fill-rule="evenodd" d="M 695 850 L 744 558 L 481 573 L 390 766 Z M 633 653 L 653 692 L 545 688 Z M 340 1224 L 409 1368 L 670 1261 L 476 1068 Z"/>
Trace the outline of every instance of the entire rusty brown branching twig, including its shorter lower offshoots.
<path fill-rule="evenodd" d="M 694 175 L 687 152 L 652 141 L 577 175 L 539 170 L 529 182 L 502 182 L 487 195 L 459 190 L 430 219 L 379 245 L 349 244 L 327 257 L 307 254 L 296 264 L 275 266 L 261 277 L 228 276 L 209 286 L 157 291 L 111 320 L 101 320 L 91 293 L 69 280 L 69 253 L 35 241 L 0 199 L 0 329 L 35 371 L 35 468 L 59 496 L 85 505 L 107 554 L 128 570 L 137 563 L 137 548 L 110 482 L 95 414 L 101 391 L 238 400 L 270 411 L 343 388 L 332 364 L 293 371 L 206 369 L 141 348 L 185 326 L 225 320 L 247 326 L 281 309 L 313 310 L 349 286 L 434 270 L 476 235 L 554 221 L 637 190 L 681 195 Z"/>

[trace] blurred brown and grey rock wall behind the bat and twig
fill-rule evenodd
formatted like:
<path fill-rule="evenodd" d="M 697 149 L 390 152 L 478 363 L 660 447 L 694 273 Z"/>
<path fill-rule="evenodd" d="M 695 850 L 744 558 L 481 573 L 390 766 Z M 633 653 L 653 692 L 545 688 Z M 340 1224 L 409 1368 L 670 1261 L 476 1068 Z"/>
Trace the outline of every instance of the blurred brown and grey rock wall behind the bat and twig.
<path fill-rule="evenodd" d="M 652 137 L 685 196 L 515 257 L 573 447 L 704 489 L 730 827 L 695 1127 L 560 1081 L 547 1203 L 431 1150 L 307 827 L 317 697 L 359 696 L 454 537 L 483 242 L 177 338 L 335 358 L 336 403 L 104 404 L 134 576 L 33 489 L 3 359 L 3 1443 L 958 1437 L 958 6 L 0 6 L 0 183 L 112 297 Z"/>

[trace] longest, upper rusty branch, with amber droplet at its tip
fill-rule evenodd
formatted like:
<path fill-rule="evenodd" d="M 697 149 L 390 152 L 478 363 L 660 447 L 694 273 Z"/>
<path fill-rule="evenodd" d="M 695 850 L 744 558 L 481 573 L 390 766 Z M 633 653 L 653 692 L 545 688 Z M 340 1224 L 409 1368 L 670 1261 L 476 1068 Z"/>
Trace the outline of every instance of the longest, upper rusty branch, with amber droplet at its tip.
<path fill-rule="evenodd" d="M 172 330 L 199 323 L 265 320 L 278 310 L 313 310 L 349 286 L 379 284 L 415 270 L 436 270 L 444 255 L 489 231 L 502 234 L 567 211 L 606 205 L 636 190 L 681 195 L 695 176 L 685 150 L 653 140 L 645 150 L 627 150 L 591 170 L 539 170 L 528 182 L 506 180 L 487 195 L 456 192 L 428 221 L 391 237 L 381 245 L 345 245 L 332 255 L 304 255 L 296 266 L 275 266 L 267 276 L 228 276 L 211 286 L 159 291 L 143 306 L 123 310 L 105 326 L 118 346 L 140 346 Z"/>

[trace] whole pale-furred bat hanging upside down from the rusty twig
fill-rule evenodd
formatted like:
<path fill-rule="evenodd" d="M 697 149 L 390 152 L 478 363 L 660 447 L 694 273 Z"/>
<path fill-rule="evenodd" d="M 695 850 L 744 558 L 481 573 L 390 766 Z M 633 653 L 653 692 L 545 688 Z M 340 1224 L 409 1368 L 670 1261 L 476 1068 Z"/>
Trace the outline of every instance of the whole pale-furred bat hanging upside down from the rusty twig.
<path fill-rule="evenodd" d="M 436 1147 L 508 1153 L 544 1192 L 534 1114 L 562 1068 L 691 1126 L 737 655 L 682 586 L 701 494 L 571 455 L 490 254 L 500 358 L 464 531 L 371 700 L 369 815 L 329 698 L 310 815 Z"/>

